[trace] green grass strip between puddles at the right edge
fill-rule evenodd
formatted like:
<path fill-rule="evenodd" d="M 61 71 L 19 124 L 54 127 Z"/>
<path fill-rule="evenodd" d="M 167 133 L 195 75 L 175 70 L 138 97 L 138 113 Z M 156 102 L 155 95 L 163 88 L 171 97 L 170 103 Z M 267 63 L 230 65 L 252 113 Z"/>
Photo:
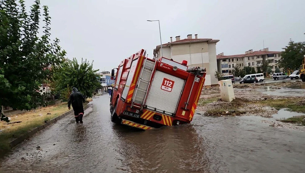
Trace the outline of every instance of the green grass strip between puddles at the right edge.
<path fill-rule="evenodd" d="M 304 100 L 302 98 L 284 98 L 258 101 L 257 104 L 273 107 L 277 110 L 288 108 L 289 111 L 305 113 Z"/>

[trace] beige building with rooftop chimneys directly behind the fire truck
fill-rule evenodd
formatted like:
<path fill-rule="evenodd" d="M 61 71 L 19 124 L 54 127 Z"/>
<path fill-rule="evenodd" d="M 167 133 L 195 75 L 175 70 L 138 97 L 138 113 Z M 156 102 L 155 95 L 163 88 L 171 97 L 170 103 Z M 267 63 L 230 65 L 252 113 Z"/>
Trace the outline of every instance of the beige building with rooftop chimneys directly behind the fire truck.
<path fill-rule="evenodd" d="M 192 34 L 187 35 L 187 38 L 180 39 L 176 36 L 176 41 L 170 37 L 170 42 L 162 44 L 163 57 L 173 59 L 176 62 L 186 60 L 188 66 L 199 66 L 206 68 L 205 86 L 218 85 L 218 80 L 214 77 L 214 72 L 217 70 L 216 59 L 216 43 L 219 40 L 211 38 L 195 38 Z M 161 45 L 154 49 L 154 58 L 161 57 Z"/>

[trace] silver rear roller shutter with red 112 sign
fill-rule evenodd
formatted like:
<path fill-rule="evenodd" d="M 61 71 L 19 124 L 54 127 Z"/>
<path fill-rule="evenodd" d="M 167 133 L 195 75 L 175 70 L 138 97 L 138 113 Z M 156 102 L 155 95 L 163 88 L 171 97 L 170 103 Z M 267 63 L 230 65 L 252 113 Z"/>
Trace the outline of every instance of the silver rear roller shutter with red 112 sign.
<path fill-rule="evenodd" d="M 184 84 L 185 80 L 157 70 L 146 100 L 147 108 L 175 114 Z"/>

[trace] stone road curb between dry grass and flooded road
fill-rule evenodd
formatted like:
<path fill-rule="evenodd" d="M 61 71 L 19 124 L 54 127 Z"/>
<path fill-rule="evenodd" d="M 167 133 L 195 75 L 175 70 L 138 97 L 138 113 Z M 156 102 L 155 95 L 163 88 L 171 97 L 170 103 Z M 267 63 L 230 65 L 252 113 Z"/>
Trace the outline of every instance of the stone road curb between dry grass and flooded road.
<path fill-rule="evenodd" d="M 87 109 L 89 107 L 88 104 L 84 105 L 84 110 Z M 15 147 L 16 145 L 18 145 L 19 143 L 23 142 L 25 139 L 29 139 L 30 137 L 32 137 L 35 133 L 41 131 L 42 129 L 45 129 L 46 127 L 48 127 L 49 125 L 52 125 L 54 123 L 56 123 L 58 120 L 64 118 L 65 116 L 69 115 L 70 113 L 73 112 L 73 109 L 71 109 L 70 111 L 67 111 L 65 113 L 63 113 L 62 115 L 56 117 L 56 118 L 53 118 L 51 120 L 49 120 L 48 122 L 46 122 L 45 124 L 39 126 L 39 127 L 36 127 L 35 129 L 27 132 L 27 134 L 23 135 L 23 136 L 20 136 L 16 139 L 13 139 L 11 142 L 9 142 L 10 146 L 11 147 Z"/>

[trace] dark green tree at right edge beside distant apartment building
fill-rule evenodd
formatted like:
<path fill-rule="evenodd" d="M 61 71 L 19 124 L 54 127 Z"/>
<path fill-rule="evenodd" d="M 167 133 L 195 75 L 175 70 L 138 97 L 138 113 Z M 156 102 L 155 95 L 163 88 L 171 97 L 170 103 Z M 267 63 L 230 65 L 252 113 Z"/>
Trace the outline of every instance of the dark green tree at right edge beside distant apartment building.
<path fill-rule="evenodd" d="M 296 70 L 302 64 L 305 55 L 305 42 L 289 41 L 288 45 L 283 48 L 281 59 L 278 65 L 284 69 Z"/>

